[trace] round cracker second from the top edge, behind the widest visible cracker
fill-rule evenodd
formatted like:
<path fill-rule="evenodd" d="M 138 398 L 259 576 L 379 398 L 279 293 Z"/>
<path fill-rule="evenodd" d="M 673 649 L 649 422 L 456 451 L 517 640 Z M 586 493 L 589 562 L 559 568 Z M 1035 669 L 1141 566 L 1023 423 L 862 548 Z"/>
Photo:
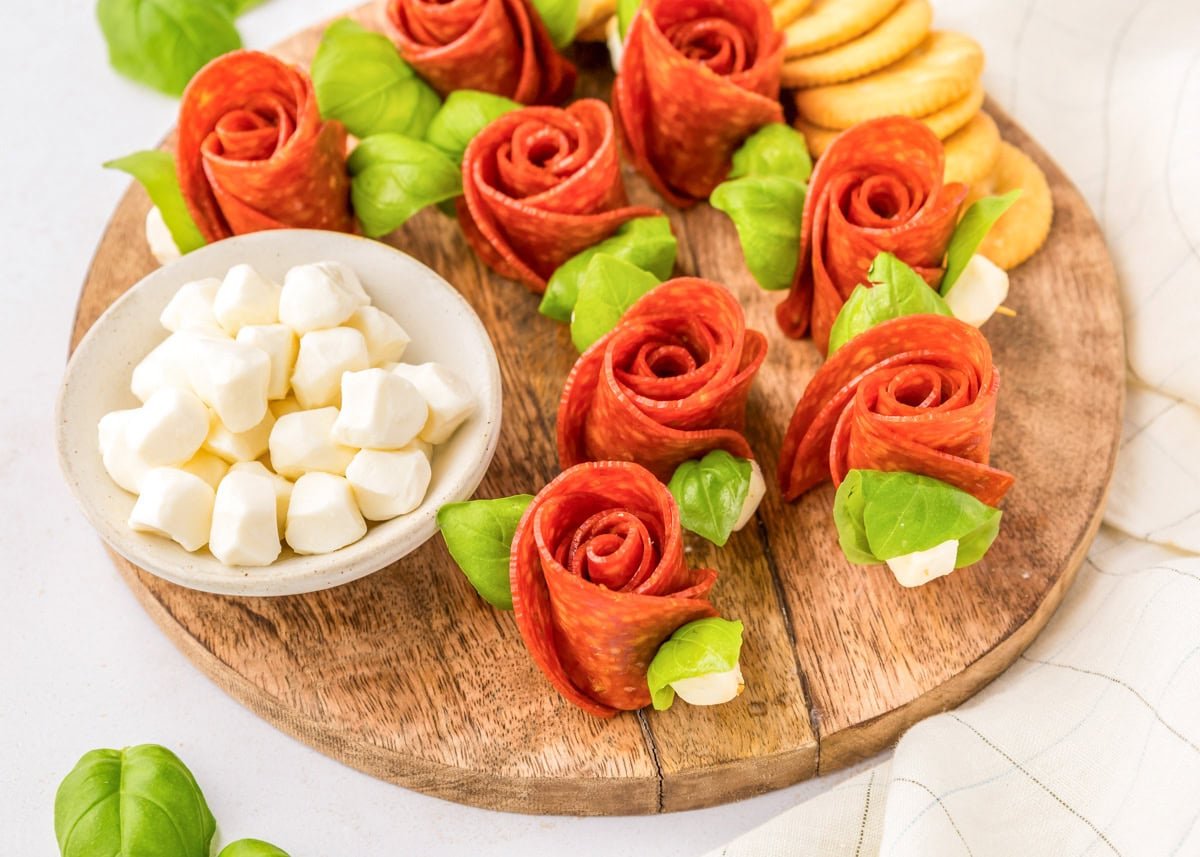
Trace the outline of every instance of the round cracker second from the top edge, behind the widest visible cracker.
<path fill-rule="evenodd" d="M 902 59 L 924 41 L 934 19 L 929 0 L 901 0 L 895 11 L 858 38 L 784 64 L 788 88 L 824 86 L 870 74 Z"/>

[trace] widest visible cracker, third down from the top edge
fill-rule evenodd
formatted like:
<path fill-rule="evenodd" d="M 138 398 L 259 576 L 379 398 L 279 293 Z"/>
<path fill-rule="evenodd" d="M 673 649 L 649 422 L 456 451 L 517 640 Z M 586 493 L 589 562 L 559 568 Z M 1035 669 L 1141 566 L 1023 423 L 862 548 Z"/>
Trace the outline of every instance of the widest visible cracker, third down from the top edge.
<path fill-rule="evenodd" d="M 827 128 L 848 128 L 877 116 L 928 116 L 967 96 L 982 72 L 978 42 L 934 30 L 899 62 L 850 83 L 797 91 L 796 108 Z"/>

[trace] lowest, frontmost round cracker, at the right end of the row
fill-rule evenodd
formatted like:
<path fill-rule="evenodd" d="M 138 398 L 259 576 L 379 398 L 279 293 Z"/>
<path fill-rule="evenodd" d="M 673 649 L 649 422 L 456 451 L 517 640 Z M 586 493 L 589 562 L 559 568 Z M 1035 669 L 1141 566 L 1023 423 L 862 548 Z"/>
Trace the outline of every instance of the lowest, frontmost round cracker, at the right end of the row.
<path fill-rule="evenodd" d="M 992 173 L 992 193 L 1008 193 L 1018 187 L 1021 196 L 1008 209 L 979 245 L 979 252 L 1004 270 L 1016 268 L 1033 256 L 1050 234 L 1054 198 L 1042 168 L 1012 143 L 1001 140 L 1000 158 Z"/>

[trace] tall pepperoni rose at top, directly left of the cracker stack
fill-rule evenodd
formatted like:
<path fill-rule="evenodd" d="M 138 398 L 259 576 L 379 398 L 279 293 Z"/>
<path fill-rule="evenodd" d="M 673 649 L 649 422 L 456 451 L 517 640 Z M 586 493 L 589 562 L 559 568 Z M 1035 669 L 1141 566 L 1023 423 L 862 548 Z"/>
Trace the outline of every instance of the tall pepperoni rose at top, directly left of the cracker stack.
<path fill-rule="evenodd" d="M 745 138 L 784 121 L 782 64 L 762 0 L 646 0 L 612 94 L 634 164 L 676 205 L 707 199 Z"/>

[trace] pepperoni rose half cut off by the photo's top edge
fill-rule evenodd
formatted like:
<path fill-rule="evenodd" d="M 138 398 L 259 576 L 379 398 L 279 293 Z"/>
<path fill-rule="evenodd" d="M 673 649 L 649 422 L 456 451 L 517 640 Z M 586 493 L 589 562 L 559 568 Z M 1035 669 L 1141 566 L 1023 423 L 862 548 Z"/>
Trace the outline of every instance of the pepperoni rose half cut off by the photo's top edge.
<path fill-rule="evenodd" d="M 575 89 L 575 66 L 528 0 L 388 0 L 385 18 L 400 53 L 443 96 L 478 89 L 560 104 Z"/>

